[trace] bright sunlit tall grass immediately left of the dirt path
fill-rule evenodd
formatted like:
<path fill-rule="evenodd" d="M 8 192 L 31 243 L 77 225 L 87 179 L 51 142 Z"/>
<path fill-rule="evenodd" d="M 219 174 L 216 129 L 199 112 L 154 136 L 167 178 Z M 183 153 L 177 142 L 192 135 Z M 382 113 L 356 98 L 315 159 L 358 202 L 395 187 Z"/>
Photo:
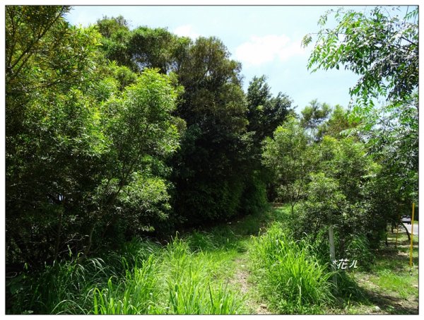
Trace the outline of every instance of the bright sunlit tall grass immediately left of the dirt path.
<path fill-rule="evenodd" d="M 213 248 L 211 237 L 196 242 Z M 93 291 L 93 314 L 237 314 L 240 295 L 218 280 L 216 256 L 196 249 L 189 239 L 175 237 L 153 258 L 148 256 L 126 278 Z M 221 267 L 222 268 L 222 267 Z"/>

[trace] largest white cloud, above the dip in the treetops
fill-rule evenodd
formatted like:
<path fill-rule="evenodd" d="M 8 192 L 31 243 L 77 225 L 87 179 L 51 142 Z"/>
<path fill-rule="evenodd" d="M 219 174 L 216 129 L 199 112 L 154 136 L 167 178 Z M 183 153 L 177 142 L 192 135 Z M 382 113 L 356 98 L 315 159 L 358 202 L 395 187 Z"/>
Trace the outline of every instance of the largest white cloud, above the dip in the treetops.
<path fill-rule="evenodd" d="M 235 58 L 244 64 L 259 66 L 271 61 L 286 61 L 290 57 L 305 54 L 301 42 L 292 41 L 286 35 L 253 36 L 235 49 Z"/>

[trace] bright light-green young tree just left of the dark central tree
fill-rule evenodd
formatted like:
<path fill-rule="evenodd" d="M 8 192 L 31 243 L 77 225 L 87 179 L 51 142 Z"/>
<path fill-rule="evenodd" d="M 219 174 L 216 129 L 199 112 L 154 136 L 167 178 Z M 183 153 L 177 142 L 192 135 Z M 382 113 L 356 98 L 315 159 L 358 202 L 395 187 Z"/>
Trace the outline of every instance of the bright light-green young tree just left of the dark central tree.
<path fill-rule="evenodd" d="M 146 69 L 121 96 L 102 106 L 110 146 L 101 182 L 90 198 L 86 253 L 96 230 L 105 233 L 119 222 L 136 234 L 167 217 L 167 182 L 161 177 L 167 170 L 163 160 L 178 146 L 171 115 L 176 98 L 170 78 Z"/>

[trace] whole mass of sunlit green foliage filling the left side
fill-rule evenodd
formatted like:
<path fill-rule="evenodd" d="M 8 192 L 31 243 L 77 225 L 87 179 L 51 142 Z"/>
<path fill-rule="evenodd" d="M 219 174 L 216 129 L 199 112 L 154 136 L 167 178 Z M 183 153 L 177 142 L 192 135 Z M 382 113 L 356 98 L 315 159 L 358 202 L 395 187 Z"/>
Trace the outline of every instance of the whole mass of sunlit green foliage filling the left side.
<path fill-rule="evenodd" d="M 115 239 L 151 230 L 170 210 L 179 88 L 105 63 L 98 32 L 69 26 L 67 10 L 6 8 L 6 260 L 33 268 L 68 247 L 89 254 L 110 225 Z"/>

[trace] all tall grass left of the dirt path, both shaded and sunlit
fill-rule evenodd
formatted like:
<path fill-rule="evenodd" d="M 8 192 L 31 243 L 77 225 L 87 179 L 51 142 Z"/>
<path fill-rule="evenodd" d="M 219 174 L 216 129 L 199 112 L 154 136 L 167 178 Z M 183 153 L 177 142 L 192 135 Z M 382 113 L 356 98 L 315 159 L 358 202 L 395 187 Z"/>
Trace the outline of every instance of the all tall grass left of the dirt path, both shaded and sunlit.
<path fill-rule="evenodd" d="M 206 232 L 165 247 L 138 239 L 104 260 L 54 263 L 8 284 L 9 313 L 242 314 L 244 297 L 229 282 L 237 254 L 229 242 Z"/>

